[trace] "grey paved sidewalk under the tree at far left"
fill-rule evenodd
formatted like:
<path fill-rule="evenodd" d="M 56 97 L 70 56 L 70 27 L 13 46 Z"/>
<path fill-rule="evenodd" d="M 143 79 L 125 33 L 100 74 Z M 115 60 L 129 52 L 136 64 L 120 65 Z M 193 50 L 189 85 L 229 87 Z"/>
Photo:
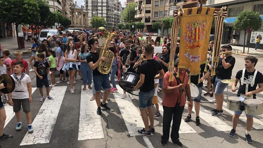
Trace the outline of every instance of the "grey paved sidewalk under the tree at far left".
<path fill-rule="evenodd" d="M 32 47 L 32 42 L 30 41 L 29 42 L 24 41 L 24 42 L 25 42 L 25 48 L 22 48 L 21 51 L 23 53 L 31 52 L 31 51 L 28 51 L 28 49 Z M 8 49 L 10 51 L 10 55 L 14 55 L 15 52 L 18 51 L 16 36 L 11 37 L 11 39 L 0 38 L 0 44 L 1 44 L 2 50 Z"/>

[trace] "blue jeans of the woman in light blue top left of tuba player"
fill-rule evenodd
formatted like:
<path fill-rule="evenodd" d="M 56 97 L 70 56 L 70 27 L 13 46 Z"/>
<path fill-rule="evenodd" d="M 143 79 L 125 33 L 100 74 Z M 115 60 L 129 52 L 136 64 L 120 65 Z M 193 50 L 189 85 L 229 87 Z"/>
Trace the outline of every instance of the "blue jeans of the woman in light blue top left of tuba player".
<path fill-rule="evenodd" d="M 92 71 L 87 63 L 80 64 L 80 70 L 82 74 L 83 84 L 91 85 L 92 83 Z"/>

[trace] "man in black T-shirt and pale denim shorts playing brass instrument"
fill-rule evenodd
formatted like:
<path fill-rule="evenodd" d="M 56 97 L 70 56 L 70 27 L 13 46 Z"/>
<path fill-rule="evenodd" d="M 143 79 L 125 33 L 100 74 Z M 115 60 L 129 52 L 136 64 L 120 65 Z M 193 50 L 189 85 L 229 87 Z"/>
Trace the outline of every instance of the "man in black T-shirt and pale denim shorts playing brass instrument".
<path fill-rule="evenodd" d="M 230 45 L 221 46 L 221 52 L 232 51 Z M 232 70 L 234 68 L 236 59 L 231 55 L 226 57 L 225 54 L 221 54 L 218 66 L 215 68 L 215 101 L 216 108 L 212 109 L 212 115 L 217 116 L 223 114 L 223 102 L 224 102 L 224 89 L 227 87 L 226 83 L 222 83 L 221 80 L 231 79 Z"/>

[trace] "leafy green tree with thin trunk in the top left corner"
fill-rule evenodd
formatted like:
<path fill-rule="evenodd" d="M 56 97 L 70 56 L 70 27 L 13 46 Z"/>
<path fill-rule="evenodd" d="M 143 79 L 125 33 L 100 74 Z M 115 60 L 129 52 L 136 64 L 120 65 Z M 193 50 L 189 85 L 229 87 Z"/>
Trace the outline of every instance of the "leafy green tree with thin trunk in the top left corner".
<path fill-rule="evenodd" d="M 36 0 L 0 0 L 0 22 L 14 23 L 16 30 L 19 24 L 31 24 L 38 22 L 40 17 L 36 13 L 39 11 L 38 1 Z M 18 32 L 16 31 L 16 39 L 18 48 L 21 50 L 18 39 Z"/>

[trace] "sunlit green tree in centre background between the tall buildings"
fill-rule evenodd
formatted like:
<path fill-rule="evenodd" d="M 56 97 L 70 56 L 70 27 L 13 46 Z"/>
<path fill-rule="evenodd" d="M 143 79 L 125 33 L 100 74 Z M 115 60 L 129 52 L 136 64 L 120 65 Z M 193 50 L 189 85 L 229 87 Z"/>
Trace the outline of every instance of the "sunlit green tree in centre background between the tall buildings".
<path fill-rule="evenodd" d="M 124 22 L 135 22 L 135 7 L 135 3 L 130 3 L 127 7 L 125 7 L 124 11 L 122 12 L 122 20 Z"/>

